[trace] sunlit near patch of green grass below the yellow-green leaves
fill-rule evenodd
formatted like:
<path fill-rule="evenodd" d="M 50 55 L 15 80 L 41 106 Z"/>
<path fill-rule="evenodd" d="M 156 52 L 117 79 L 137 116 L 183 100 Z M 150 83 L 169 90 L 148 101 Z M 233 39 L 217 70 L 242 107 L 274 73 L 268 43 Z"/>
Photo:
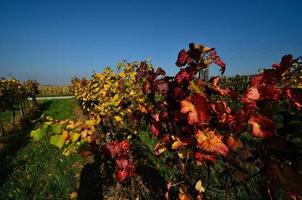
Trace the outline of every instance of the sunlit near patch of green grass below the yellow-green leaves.
<path fill-rule="evenodd" d="M 77 189 L 83 160 L 65 157 L 48 140 L 30 142 L 9 163 L 13 169 L 3 184 L 1 199 L 69 199 Z"/>

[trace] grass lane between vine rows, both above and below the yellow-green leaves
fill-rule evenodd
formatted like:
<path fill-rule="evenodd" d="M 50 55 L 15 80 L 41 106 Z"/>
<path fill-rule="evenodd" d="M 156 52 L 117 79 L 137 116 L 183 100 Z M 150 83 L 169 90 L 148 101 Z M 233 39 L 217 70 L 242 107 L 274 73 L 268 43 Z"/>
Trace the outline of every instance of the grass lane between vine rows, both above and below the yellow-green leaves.
<path fill-rule="evenodd" d="M 54 119 L 74 119 L 77 104 L 72 99 L 48 100 L 41 111 Z M 33 142 L 29 133 L 37 124 L 7 137 L 0 152 L 0 199 L 70 199 L 77 190 L 84 160 L 65 157 L 49 140 Z"/>

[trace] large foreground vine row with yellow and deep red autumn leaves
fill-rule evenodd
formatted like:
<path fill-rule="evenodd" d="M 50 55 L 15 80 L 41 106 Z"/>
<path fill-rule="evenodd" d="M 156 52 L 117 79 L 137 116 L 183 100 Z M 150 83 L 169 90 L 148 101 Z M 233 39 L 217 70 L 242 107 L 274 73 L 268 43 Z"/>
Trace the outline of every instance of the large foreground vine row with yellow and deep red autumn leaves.
<path fill-rule="evenodd" d="M 175 77 L 141 62 L 73 79 L 96 128 L 92 145 L 110 155 L 116 179 L 129 184 L 145 162 L 134 149 L 144 145 L 140 132 L 147 130 L 156 140 L 154 156 L 163 159 L 155 168 L 175 172 L 161 174 L 166 198 L 214 198 L 217 191 L 220 198 L 236 198 L 242 188 L 247 196 L 240 198 L 274 199 L 280 188 L 286 197 L 301 198 L 302 91 L 292 81 L 300 76 L 301 58 L 282 57 L 244 87 L 226 87 L 220 76 L 196 78 L 212 64 L 225 72 L 214 48 L 191 43 L 178 54 Z"/>

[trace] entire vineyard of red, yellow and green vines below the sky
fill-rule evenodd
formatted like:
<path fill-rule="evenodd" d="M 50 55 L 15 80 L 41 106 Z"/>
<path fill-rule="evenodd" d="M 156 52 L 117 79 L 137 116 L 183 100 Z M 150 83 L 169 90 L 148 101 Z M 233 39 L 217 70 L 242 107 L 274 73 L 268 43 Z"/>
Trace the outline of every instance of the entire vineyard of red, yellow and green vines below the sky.
<path fill-rule="evenodd" d="M 61 160 L 52 167 L 65 175 L 55 177 L 68 174 L 52 183 L 60 190 L 38 199 L 302 199 L 302 58 L 285 55 L 259 74 L 225 77 L 218 52 L 191 43 L 175 67 L 168 76 L 148 61 L 121 62 L 73 78 L 70 87 L 2 79 L 0 152 L 12 132 L 2 119 L 15 127 L 16 113 L 25 119 L 36 112 L 25 137 L 37 152 L 47 147 L 49 160 Z M 210 67 L 221 76 L 198 78 Z M 43 113 L 36 97 L 58 94 L 74 102 Z M 22 162 L 41 162 L 33 158 Z M 18 174 L 1 175 L 0 199 L 32 195 L 47 182 L 46 174 L 34 183 L 31 176 L 20 177 L 33 185 L 19 187 Z"/>

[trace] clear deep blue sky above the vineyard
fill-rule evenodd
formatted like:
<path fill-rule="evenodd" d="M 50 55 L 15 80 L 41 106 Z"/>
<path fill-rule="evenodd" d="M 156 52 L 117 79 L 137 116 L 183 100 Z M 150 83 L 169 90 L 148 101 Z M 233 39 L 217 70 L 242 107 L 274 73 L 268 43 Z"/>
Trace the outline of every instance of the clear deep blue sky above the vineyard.
<path fill-rule="evenodd" d="M 63 84 L 149 57 L 175 74 L 189 42 L 215 47 L 226 75 L 252 74 L 302 55 L 301 12 L 301 0 L 0 0 L 0 77 Z"/>

